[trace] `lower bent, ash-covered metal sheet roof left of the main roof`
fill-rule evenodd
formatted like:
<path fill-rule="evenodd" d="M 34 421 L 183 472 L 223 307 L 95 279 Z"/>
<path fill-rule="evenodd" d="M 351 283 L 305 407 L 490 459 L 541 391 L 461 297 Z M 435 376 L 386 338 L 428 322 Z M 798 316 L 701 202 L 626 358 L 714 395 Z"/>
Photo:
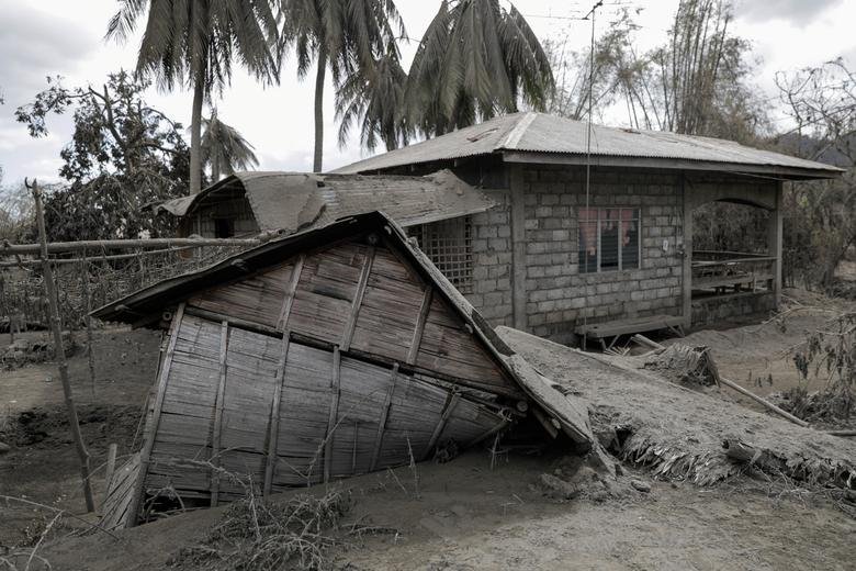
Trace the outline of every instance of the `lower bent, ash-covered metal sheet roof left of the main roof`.
<path fill-rule="evenodd" d="M 382 210 L 403 226 L 484 212 L 495 205 L 449 170 L 426 177 L 237 172 L 199 194 L 151 208 L 184 216 L 218 192 L 243 189 L 261 231 L 325 226 L 338 219 Z"/>

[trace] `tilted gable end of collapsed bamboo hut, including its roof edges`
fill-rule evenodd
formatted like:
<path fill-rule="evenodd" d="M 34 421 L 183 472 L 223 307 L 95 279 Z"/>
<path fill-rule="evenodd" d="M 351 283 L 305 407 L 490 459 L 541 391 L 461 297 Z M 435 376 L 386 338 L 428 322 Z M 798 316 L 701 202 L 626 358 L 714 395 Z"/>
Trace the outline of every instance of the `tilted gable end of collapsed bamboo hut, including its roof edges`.
<path fill-rule="evenodd" d="M 587 410 L 383 213 L 271 240 L 93 315 L 146 325 L 165 312 L 146 439 L 111 482 L 108 526 L 134 525 L 147 490 L 236 497 L 221 467 L 267 494 L 471 446 L 522 417 L 594 446 Z"/>

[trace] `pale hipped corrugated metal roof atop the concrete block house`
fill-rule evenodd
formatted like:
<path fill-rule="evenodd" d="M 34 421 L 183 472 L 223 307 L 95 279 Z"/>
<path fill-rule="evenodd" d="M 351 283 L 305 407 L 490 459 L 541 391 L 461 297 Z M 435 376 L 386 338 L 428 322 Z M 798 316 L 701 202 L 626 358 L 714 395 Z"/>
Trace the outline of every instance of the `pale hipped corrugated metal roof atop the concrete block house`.
<path fill-rule="evenodd" d="M 584 157 L 586 131 L 587 124 L 581 121 L 543 113 L 514 113 L 360 160 L 334 172 L 370 172 L 405 165 L 508 152 Z M 697 161 L 730 166 L 736 171 L 747 169 L 752 172 L 782 173 L 790 169 L 795 175 L 800 171 L 800 176 L 809 178 L 827 178 L 842 172 L 831 165 L 752 148 L 731 141 L 601 125 L 593 125 L 592 155 L 598 159 L 599 165 L 609 164 L 604 157 L 613 157 L 667 160 L 656 165 L 656 168 L 686 168 L 686 164 Z M 672 167 L 668 161 L 672 161 Z M 684 166 L 680 163 L 684 163 Z M 627 161 L 617 164 L 626 166 Z"/>

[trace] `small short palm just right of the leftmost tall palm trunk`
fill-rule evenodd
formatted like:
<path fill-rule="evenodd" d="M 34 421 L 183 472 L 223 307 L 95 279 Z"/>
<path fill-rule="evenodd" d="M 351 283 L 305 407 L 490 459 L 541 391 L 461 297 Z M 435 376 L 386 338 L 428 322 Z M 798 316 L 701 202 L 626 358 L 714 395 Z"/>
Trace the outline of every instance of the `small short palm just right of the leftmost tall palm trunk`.
<path fill-rule="evenodd" d="M 255 147 L 235 127 L 221 121 L 216 109 L 211 111 L 211 117 L 202 120 L 202 163 L 211 167 L 212 182 L 218 181 L 221 173 L 228 177 L 236 170 L 259 166 Z"/>

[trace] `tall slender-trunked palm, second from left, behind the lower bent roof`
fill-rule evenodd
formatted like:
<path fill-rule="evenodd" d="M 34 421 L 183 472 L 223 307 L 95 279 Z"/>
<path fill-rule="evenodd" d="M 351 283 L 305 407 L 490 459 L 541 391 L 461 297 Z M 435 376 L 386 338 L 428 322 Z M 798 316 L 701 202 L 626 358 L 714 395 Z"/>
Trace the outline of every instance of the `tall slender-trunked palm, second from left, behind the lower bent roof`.
<path fill-rule="evenodd" d="M 297 76 L 306 77 L 316 64 L 315 152 L 313 170 L 320 172 L 324 159 L 324 83 L 327 68 L 336 86 L 345 76 L 368 69 L 395 42 L 404 22 L 393 0 L 281 0 L 285 14 L 282 42 L 294 45 Z"/>

